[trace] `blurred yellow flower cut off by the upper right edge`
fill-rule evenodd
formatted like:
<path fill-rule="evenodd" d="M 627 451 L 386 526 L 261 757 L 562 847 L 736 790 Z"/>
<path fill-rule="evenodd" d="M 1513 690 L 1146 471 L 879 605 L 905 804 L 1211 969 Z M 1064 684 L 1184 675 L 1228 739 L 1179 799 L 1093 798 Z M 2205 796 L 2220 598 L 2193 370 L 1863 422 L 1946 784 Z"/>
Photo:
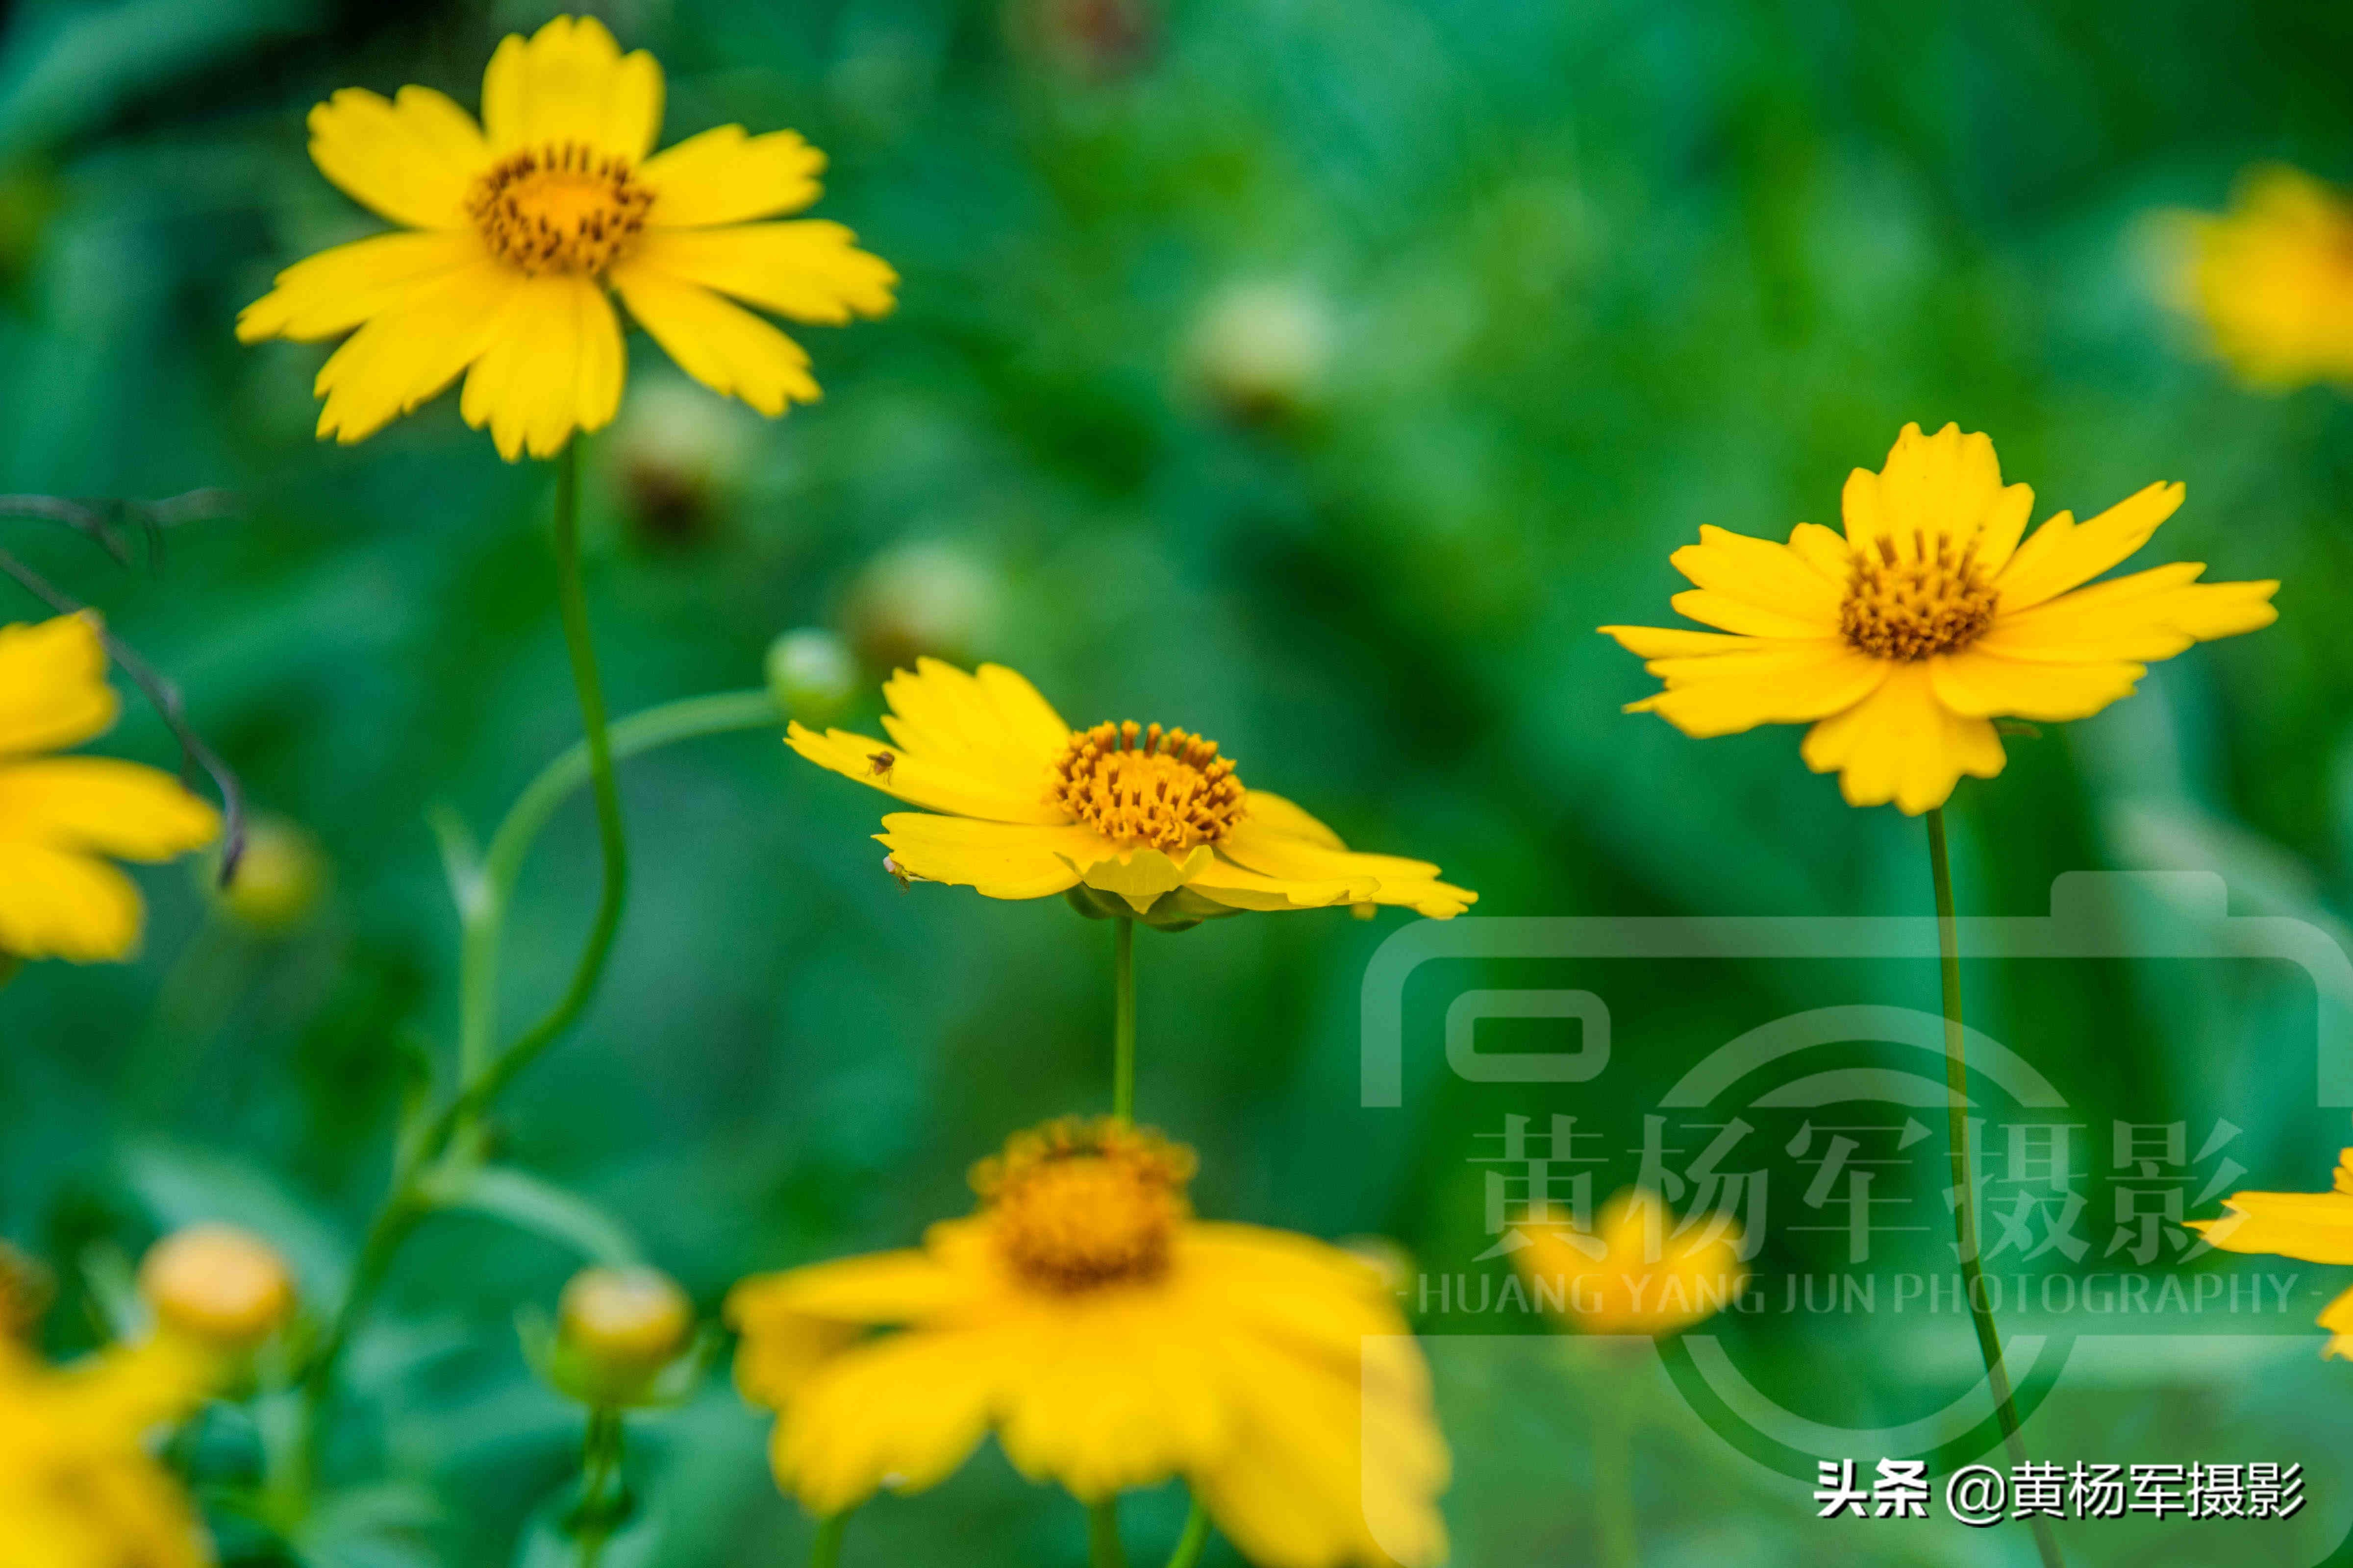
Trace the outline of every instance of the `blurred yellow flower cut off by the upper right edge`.
<path fill-rule="evenodd" d="M 2353 202 L 2311 174 L 2247 172 L 2221 216 L 2169 214 L 2174 303 L 2249 386 L 2353 383 Z"/>

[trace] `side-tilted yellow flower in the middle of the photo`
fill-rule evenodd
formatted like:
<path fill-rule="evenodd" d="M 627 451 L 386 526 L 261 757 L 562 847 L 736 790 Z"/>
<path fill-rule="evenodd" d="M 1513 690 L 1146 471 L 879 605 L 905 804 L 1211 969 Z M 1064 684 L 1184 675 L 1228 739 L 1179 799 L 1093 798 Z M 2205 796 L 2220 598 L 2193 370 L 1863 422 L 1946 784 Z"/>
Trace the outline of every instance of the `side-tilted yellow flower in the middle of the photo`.
<path fill-rule="evenodd" d="M 1002 665 L 918 658 L 882 686 L 889 743 L 793 724 L 809 762 L 927 811 L 882 818 L 894 867 L 988 898 L 1099 889 L 1153 919 L 1235 910 L 1409 905 L 1435 919 L 1478 893 L 1438 867 L 1360 856 L 1313 816 L 1245 790 L 1217 741 L 1127 724 L 1071 729 Z M 932 816 L 936 813 L 936 816 Z"/>

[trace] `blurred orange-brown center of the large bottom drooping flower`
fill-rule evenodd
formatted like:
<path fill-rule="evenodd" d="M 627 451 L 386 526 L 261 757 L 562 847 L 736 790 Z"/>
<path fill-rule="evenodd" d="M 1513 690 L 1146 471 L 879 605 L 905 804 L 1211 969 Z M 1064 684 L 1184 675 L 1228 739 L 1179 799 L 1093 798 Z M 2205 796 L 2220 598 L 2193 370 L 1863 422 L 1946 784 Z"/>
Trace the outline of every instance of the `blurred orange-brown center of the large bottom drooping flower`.
<path fill-rule="evenodd" d="M 1193 1150 L 1125 1121 L 1064 1119 L 972 1171 L 995 1244 L 1026 1284 L 1056 1293 L 1160 1279 Z"/>

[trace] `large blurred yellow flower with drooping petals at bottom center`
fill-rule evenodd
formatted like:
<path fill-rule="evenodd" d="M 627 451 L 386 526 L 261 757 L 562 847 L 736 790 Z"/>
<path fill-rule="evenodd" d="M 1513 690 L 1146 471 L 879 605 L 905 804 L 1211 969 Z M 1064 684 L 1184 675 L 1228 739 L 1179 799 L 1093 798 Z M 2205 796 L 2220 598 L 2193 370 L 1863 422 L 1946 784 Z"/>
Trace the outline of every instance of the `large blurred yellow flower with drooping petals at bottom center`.
<path fill-rule="evenodd" d="M 1447 1450 L 1393 1295 L 1339 1248 L 1195 1220 L 1191 1173 L 1148 1131 L 1056 1121 L 920 1251 L 736 1286 L 779 1486 L 838 1514 L 944 1481 L 993 1429 L 1085 1502 L 1184 1476 L 1261 1568 L 1445 1556 Z"/>

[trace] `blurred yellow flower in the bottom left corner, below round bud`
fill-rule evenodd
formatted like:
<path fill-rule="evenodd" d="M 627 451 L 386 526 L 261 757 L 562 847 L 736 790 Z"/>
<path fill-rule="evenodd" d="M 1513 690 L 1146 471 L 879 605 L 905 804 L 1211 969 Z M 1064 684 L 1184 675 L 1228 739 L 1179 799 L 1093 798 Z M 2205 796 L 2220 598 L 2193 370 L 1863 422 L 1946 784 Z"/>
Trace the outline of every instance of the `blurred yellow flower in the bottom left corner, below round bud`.
<path fill-rule="evenodd" d="M 172 1340 L 47 1366 L 0 1340 L 0 1563 L 7 1568 L 202 1568 L 205 1530 L 146 1450 L 209 1387 L 202 1354 Z"/>

